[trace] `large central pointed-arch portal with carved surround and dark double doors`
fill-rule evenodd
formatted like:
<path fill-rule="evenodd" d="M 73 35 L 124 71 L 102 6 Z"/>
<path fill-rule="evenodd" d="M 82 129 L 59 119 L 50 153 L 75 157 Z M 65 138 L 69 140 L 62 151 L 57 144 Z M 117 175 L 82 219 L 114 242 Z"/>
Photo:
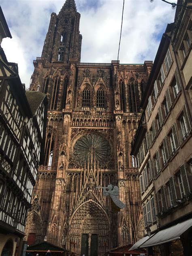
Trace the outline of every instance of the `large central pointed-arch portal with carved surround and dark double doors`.
<path fill-rule="evenodd" d="M 109 248 L 109 218 L 92 199 L 80 205 L 70 220 L 68 248 L 77 255 L 100 256 Z"/>

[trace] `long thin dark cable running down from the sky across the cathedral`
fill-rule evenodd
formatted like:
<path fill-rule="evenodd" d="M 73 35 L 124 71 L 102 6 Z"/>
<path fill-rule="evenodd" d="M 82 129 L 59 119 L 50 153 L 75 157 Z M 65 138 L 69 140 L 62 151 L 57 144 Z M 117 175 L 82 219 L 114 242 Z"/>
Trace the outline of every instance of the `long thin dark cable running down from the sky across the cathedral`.
<path fill-rule="evenodd" d="M 117 87 L 117 68 L 118 68 L 119 50 L 120 50 L 121 37 L 122 37 L 124 4 L 125 4 L 125 0 L 123 0 L 122 23 L 121 23 L 121 32 L 120 32 L 120 38 L 119 38 L 119 49 L 118 49 L 118 54 L 117 54 L 117 67 L 116 67 L 116 74 L 115 74 L 115 87 L 114 87 L 114 91 L 113 91 L 113 102 L 112 102 L 112 108 L 111 108 L 111 119 L 112 119 L 112 117 L 113 117 L 113 106 L 114 106 L 114 100 L 115 100 L 115 90 L 116 90 L 116 87 Z M 107 156 L 108 156 L 108 149 L 109 149 L 110 133 L 111 133 L 111 120 L 110 120 L 110 127 L 109 127 L 109 138 L 108 138 L 108 142 L 107 142 L 107 155 L 106 155 L 105 166 L 104 166 L 105 169 L 106 169 L 106 164 L 107 164 Z M 104 169 L 104 173 L 105 173 L 105 169 Z"/>

